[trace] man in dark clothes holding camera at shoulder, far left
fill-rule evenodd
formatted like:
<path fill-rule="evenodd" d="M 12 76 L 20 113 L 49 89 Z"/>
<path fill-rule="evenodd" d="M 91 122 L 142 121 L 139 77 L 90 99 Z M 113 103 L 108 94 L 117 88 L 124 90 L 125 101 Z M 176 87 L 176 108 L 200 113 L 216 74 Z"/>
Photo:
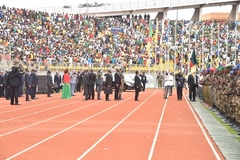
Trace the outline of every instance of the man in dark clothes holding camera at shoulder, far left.
<path fill-rule="evenodd" d="M 8 73 L 7 77 L 7 88 L 10 88 L 10 97 L 11 97 L 11 105 L 20 105 L 18 103 L 18 90 L 21 86 L 22 74 L 19 72 L 18 67 L 13 66 L 12 71 Z M 15 100 L 15 103 L 14 103 Z"/>

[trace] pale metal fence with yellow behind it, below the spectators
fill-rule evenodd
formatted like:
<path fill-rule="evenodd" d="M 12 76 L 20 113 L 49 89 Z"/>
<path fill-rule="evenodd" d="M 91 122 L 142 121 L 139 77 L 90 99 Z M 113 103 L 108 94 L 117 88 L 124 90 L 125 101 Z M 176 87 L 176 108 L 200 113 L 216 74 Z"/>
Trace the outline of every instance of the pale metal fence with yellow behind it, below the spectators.
<path fill-rule="evenodd" d="M 37 69 L 38 73 L 46 73 L 46 71 L 60 71 L 62 72 L 64 69 L 68 68 L 70 71 L 83 71 L 87 70 L 115 70 L 116 68 L 121 68 L 126 73 L 134 73 L 135 71 L 145 72 L 145 73 L 159 73 L 164 72 L 166 70 L 170 72 L 174 72 L 174 63 L 169 61 L 165 64 L 150 64 L 150 65 L 141 65 L 141 64 L 132 64 L 132 65 L 116 65 L 116 64 L 101 64 L 101 63 L 93 63 L 93 64 L 83 64 L 83 63 L 64 63 L 64 62 L 37 62 L 37 61 L 14 61 L 14 60 L 1 60 L 0 61 L 0 70 L 8 70 L 11 69 L 13 65 L 22 65 L 23 68 L 29 69 Z M 180 71 L 181 68 L 176 67 L 175 71 Z"/>

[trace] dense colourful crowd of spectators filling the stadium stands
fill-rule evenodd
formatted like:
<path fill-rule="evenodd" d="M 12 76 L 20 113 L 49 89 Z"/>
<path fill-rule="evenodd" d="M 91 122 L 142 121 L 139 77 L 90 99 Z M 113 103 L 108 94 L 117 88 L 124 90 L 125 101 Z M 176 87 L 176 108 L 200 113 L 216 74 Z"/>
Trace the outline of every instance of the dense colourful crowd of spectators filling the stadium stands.
<path fill-rule="evenodd" d="M 122 66 L 175 61 L 177 69 L 184 71 L 193 49 L 199 68 L 240 59 L 240 38 L 235 32 L 240 30 L 238 22 L 151 21 L 154 34 L 149 52 L 149 19 L 149 15 L 91 17 L 2 6 L 0 61 Z"/>

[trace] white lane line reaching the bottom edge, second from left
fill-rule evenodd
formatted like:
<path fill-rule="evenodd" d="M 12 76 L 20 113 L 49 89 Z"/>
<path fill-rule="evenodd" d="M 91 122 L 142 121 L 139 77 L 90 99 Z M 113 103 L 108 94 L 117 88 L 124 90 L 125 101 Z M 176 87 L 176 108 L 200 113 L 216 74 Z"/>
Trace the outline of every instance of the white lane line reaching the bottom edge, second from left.
<path fill-rule="evenodd" d="M 111 130 L 109 130 L 104 136 L 102 136 L 96 143 L 94 143 L 86 152 L 84 152 L 77 160 L 81 160 L 85 157 L 94 147 L 96 147 L 104 138 L 106 138 L 112 131 L 114 131 L 123 121 L 130 117 L 137 109 L 139 109 L 149 98 L 151 98 L 158 90 L 152 93 L 146 100 L 144 100 L 137 108 L 124 117 L 118 124 L 116 124 Z"/>

